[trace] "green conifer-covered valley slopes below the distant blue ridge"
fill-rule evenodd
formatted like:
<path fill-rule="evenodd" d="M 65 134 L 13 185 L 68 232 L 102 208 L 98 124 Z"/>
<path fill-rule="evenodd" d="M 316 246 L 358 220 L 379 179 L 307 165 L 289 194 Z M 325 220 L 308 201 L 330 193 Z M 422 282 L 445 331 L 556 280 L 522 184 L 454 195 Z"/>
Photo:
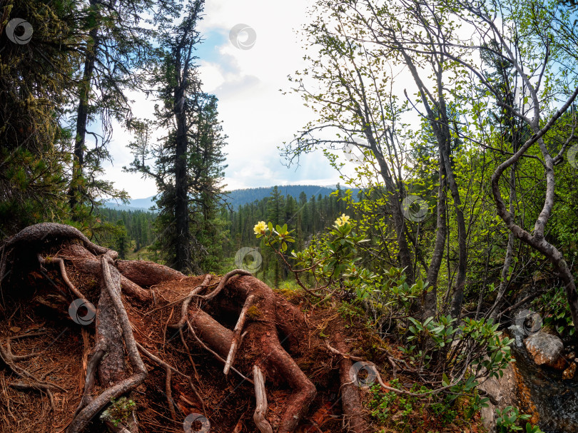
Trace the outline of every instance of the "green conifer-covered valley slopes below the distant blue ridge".
<path fill-rule="evenodd" d="M 235 254 L 240 248 L 258 247 L 260 242 L 255 238 L 253 226 L 255 221 L 275 220 L 280 224 L 287 223 L 295 230 L 295 246 L 303 248 L 308 245 L 314 236 L 323 233 L 328 225 L 331 225 L 338 216 L 347 208 L 346 195 L 353 198 L 351 190 L 344 191 L 338 185 L 337 188 L 323 188 L 309 186 L 305 190 L 313 190 L 317 195 L 307 196 L 305 190 L 301 191 L 295 199 L 293 195 L 283 195 L 282 187 L 260 188 L 255 191 L 255 196 L 262 196 L 263 191 L 270 190 L 266 195 L 253 203 L 246 203 L 232 210 L 227 203 L 220 208 L 220 217 L 223 222 L 223 249 L 222 256 L 215 258 L 214 268 L 206 271 L 225 272 L 231 263 L 235 262 Z M 296 188 L 294 189 L 296 190 Z M 320 191 L 328 192 L 322 195 Z M 253 194 L 252 194 L 253 196 Z M 118 251 L 121 258 L 126 258 L 128 253 L 138 253 L 138 257 L 148 258 L 163 263 L 158 255 L 158 240 L 156 236 L 156 213 L 143 210 L 118 210 L 115 208 L 100 208 L 99 223 L 103 234 L 98 235 L 98 242 Z M 108 231 L 110 230 L 110 231 Z M 263 249 L 263 261 L 259 271 L 262 277 L 275 280 L 278 286 L 280 272 L 282 279 L 288 280 L 288 272 L 272 252 Z M 133 255 L 130 255 L 133 257 Z M 243 263 L 242 261 L 240 262 Z"/>

